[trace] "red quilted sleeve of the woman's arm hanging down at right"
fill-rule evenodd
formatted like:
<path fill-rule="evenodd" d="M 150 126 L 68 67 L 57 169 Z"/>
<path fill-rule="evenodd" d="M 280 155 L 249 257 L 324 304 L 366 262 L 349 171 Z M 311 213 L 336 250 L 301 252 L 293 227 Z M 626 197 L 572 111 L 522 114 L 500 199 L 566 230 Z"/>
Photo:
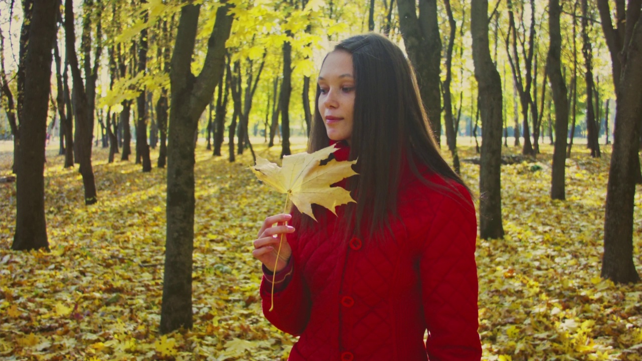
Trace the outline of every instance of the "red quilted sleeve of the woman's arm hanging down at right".
<path fill-rule="evenodd" d="M 446 194 L 424 238 L 420 272 L 431 361 L 480 360 L 477 219 L 468 192 Z"/>

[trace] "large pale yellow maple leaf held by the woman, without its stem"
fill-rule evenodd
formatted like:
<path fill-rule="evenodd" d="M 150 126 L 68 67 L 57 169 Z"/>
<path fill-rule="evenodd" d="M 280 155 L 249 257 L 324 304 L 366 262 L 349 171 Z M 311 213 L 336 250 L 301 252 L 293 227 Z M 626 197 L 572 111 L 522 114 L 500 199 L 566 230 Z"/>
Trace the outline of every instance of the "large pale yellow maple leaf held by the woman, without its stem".
<path fill-rule="evenodd" d="M 283 157 L 282 167 L 257 157 L 252 172 L 280 193 L 286 193 L 301 213 L 317 220 L 312 213 L 313 203 L 336 214 L 336 206 L 354 202 L 349 191 L 330 185 L 356 175 L 352 170 L 352 164 L 356 161 L 338 162 L 332 159 L 327 164 L 320 165 L 335 150 L 336 147 L 331 145 L 312 154 L 304 152 L 286 155 Z"/>

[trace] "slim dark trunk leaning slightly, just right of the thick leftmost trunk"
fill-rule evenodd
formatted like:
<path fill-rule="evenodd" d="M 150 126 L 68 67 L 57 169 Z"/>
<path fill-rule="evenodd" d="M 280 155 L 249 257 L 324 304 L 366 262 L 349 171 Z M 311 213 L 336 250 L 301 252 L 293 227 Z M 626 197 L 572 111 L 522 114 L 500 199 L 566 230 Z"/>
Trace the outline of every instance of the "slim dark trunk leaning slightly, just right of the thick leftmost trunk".
<path fill-rule="evenodd" d="M 91 128 L 89 127 L 89 105 L 85 87 L 80 75 L 78 58 L 76 57 L 76 35 L 74 34 L 74 13 L 73 1 L 65 0 L 65 46 L 67 47 L 67 58 L 73 80 L 72 103 L 74 104 L 74 117 L 76 130 L 80 141 L 78 145 L 78 160 L 80 161 L 80 173 L 82 174 L 83 186 L 85 188 L 85 204 L 90 205 L 98 202 L 96 195 L 96 183 L 94 182 L 94 170 L 91 165 Z"/>

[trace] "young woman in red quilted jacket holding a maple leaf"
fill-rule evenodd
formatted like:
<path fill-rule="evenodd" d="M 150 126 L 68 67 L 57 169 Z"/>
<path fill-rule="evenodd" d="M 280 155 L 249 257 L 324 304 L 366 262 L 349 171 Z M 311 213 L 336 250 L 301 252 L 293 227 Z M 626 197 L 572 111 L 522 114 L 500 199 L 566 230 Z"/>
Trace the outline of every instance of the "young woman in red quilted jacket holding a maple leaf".
<path fill-rule="evenodd" d="M 412 66 L 381 35 L 343 40 L 316 103 L 308 151 L 336 143 L 338 161 L 358 159 L 359 175 L 337 185 L 356 204 L 315 208 L 318 222 L 269 216 L 254 241 L 263 313 L 300 336 L 289 359 L 480 360 L 475 210 L 439 154 Z"/>

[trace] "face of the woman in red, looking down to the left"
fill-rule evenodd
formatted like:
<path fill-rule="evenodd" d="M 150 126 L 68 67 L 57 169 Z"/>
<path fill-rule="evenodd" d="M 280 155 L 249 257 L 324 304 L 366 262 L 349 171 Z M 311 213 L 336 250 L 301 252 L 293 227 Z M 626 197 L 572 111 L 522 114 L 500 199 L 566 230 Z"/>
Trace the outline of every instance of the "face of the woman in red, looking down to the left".
<path fill-rule="evenodd" d="M 325 57 L 319 73 L 321 89 L 318 107 L 325 123 L 327 136 L 333 141 L 347 141 L 352 136 L 354 114 L 354 71 L 352 55 L 346 51 L 333 51 Z"/>

